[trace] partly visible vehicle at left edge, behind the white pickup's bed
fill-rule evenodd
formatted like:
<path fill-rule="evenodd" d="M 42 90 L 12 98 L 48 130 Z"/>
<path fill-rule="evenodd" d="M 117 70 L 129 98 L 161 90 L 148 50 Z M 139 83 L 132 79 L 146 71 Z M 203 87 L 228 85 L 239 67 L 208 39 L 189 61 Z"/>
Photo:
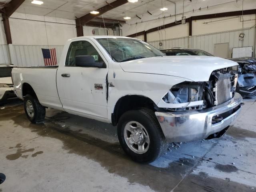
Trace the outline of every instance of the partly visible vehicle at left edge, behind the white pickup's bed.
<path fill-rule="evenodd" d="M 0 104 L 4 104 L 10 98 L 17 97 L 14 94 L 12 84 L 13 64 L 0 64 Z"/>

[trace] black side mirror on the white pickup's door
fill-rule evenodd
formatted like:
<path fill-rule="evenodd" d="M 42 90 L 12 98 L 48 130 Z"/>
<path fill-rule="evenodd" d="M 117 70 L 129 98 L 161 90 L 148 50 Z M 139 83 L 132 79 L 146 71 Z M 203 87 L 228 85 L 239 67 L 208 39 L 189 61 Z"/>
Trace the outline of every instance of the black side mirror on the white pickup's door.
<path fill-rule="evenodd" d="M 78 67 L 107 68 L 104 62 L 95 62 L 94 57 L 90 55 L 78 55 L 75 60 Z"/>

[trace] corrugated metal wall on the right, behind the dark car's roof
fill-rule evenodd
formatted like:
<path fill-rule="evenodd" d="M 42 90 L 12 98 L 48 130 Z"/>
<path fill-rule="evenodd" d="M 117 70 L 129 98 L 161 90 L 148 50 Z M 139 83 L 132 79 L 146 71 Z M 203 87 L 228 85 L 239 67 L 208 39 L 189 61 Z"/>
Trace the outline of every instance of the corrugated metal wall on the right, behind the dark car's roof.
<path fill-rule="evenodd" d="M 254 28 L 244 29 L 244 40 L 239 40 L 241 30 L 232 30 L 226 32 L 217 32 L 204 35 L 196 35 L 190 37 L 174 38 L 167 40 L 158 40 L 148 42 L 158 49 L 167 49 L 174 47 L 181 48 L 198 48 L 214 54 L 214 44 L 229 43 L 229 57 L 232 57 L 232 48 L 254 46 Z M 159 43 L 162 42 L 162 46 Z M 255 50 L 255 47 L 253 48 Z"/>

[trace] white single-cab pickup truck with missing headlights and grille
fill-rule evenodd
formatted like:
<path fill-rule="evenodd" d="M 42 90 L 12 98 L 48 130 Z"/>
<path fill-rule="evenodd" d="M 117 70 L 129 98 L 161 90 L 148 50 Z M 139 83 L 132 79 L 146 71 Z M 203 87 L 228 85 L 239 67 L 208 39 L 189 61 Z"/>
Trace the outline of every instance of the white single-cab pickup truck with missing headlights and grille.
<path fill-rule="evenodd" d="M 156 160 L 168 142 L 219 137 L 238 116 L 236 62 L 210 56 L 166 56 L 119 36 L 68 40 L 58 66 L 16 67 L 14 88 L 28 119 L 55 108 L 117 125 L 124 151 Z"/>

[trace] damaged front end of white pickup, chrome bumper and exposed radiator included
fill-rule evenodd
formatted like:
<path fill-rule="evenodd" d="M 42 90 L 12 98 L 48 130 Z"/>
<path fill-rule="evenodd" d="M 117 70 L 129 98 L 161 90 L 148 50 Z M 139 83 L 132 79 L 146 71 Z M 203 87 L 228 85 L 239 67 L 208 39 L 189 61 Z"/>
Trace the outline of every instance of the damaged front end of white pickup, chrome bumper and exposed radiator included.
<path fill-rule="evenodd" d="M 229 67 L 213 71 L 207 82 L 172 86 L 155 112 L 166 139 L 185 142 L 222 133 L 241 110 L 236 83 L 236 69 Z"/>

